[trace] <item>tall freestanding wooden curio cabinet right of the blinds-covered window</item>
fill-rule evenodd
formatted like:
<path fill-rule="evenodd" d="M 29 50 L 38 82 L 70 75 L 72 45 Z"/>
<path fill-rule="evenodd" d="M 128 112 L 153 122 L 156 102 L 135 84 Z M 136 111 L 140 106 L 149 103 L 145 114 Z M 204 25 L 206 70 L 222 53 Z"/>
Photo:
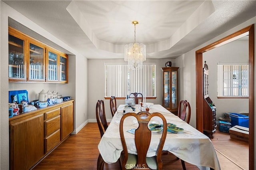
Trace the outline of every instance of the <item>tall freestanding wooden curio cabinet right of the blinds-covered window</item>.
<path fill-rule="evenodd" d="M 178 115 L 178 69 L 179 67 L 162 67 L 162 106 L 175 115 Z"/>

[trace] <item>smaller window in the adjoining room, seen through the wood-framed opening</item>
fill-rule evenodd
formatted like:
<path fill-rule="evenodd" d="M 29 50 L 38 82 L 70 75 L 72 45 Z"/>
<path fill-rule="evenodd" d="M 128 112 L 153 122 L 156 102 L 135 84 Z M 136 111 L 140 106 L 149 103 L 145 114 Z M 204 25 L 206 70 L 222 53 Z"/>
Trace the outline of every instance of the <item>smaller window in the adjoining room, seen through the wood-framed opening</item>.
<path fill-rule="evenodd" d="M 249 65 L 218 65 L 218 97 L 248 97 Z"/>

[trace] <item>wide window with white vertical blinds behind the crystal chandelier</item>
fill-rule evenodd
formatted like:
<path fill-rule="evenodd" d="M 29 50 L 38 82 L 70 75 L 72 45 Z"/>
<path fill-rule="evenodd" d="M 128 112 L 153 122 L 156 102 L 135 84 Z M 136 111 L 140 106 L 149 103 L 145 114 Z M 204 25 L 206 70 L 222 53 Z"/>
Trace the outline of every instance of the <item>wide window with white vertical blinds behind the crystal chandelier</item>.
<path fill-rule="evenodd" d="M 105 63 L 105 97 L 126 97 L 130 93 L 156 96 L 154 63 L 146 63 L 141 70 L 129 70 L 128 65 Z"/>

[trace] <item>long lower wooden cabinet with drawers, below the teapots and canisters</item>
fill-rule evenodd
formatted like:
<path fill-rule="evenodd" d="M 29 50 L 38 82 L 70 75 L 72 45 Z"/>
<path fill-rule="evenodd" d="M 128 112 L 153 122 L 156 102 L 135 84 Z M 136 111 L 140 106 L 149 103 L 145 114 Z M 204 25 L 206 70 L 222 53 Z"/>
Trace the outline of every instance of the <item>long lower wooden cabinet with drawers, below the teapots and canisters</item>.
<path fill-rule="evenodd" d="M 74 100 L 9 118 L 10 169 L 35 166 L 74 130 Z"/>

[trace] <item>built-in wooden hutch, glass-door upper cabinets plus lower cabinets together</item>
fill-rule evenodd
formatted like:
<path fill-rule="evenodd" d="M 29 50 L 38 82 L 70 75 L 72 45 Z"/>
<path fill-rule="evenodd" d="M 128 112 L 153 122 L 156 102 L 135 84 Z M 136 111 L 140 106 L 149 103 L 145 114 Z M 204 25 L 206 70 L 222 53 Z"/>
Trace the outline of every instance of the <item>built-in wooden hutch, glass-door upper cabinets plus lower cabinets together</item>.
<path fill-rule="evenodd" d="M 10 26 L 8 50 L 9 82 L 68 83 L 65 53 Z M 33 168 L 73 130 L 74 100 L 10 117 L 10 170 Z"/>

